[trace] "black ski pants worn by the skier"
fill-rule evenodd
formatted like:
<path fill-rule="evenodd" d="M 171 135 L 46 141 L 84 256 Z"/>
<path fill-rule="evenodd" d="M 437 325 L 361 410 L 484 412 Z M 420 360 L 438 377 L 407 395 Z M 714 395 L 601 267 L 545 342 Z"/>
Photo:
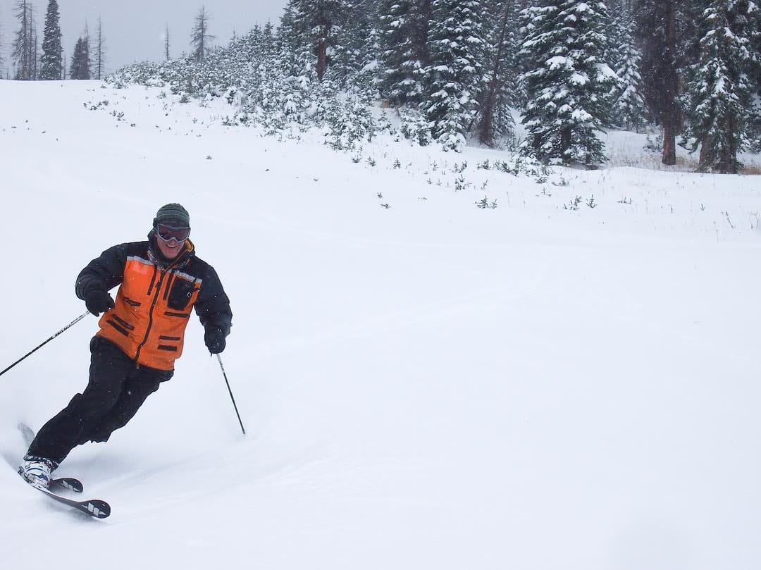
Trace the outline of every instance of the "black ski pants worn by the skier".
<path fill-rule="evenodd" d="M 90 342 L 90 381 L 34 438 L 27 455 L 62 460 L 77 445 L 108 441 L 135 416 L 145 399 L 174 371 L 137 365 L 122 349 L 95 336 Z"/>

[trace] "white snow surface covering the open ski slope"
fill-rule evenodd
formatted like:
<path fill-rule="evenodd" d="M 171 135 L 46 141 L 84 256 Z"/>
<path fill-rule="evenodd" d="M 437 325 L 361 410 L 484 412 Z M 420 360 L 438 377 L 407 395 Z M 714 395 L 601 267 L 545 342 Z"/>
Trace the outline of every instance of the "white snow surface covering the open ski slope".
<path fill-rule="evenodd" d="M 0 377 L 3 568 L 759 568 L 761 178 L 638 167 L 645 135 L 611 133 L 611 164 L 537 183 L 228 113 L 0 81 L 0 368 L 179 201 L 247 428 L 193 317 L 172 381 L 58 471 L 111 517 L 24 486 L 16 426 L 84 389 L 88 317 Z"/>

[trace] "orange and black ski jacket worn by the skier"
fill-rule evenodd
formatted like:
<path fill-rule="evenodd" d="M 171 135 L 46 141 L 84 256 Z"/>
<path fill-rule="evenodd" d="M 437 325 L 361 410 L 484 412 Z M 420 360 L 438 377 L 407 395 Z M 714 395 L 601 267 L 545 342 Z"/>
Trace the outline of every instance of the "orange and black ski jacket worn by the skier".
<path fill-rule="evenodd" d="M 77 278 L 84 300 L 96 289 L 121 284 L 116 306 L 101 317 L 102 336 L 119 346 L 137 365 L 174 370 L 183 353 L 185 329 L 195 308 L 202 325 L 230 332 L 232 312 L 217 272 L 196 256 L 190 240 L 174 260 L 156 253 L 154 233 L 148 241 L 110 247 L 88 263 Z"/>

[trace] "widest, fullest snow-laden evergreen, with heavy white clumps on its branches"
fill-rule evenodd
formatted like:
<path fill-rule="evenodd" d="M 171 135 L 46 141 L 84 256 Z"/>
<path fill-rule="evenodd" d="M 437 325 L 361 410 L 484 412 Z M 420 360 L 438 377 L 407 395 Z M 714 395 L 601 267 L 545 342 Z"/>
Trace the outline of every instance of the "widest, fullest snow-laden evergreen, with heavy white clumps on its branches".
<path fill-rule="evenodd" d="M 615 79 L 601 61 L 607 44 L 604 3 L 543 0 L 526 14 L 524 152 L 564 164 L 604 161 L 597 132 L 606 122 L 606 97 Z"/>

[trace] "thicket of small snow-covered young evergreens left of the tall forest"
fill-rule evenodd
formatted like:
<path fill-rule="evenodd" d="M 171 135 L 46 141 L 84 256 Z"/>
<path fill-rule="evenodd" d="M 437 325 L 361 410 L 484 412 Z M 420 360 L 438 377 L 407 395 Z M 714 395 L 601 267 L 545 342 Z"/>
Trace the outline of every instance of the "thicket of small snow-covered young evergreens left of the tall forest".
<path fill-rule="evenodd" d="M 168 88 L 183 100 L 224 97 L 234 108 L 227 124 L 254 124 L 268 135 L 325 128 L 326 144 L 334 148 L 354 148 L 379 129 L 368 89 L 342 89 L 330 75 L 318 81 L 309 59 L 281 56 L 272 38 L 257 29 L 215 49 L 202 62 L 186 57 L 138 63 L 113 73 L 107 81 L 118 88 L 127 84 Z M 342 78 L 341 83 L 351 81 Z M 366 87 L 368 81 L 358 84 Z"/>

